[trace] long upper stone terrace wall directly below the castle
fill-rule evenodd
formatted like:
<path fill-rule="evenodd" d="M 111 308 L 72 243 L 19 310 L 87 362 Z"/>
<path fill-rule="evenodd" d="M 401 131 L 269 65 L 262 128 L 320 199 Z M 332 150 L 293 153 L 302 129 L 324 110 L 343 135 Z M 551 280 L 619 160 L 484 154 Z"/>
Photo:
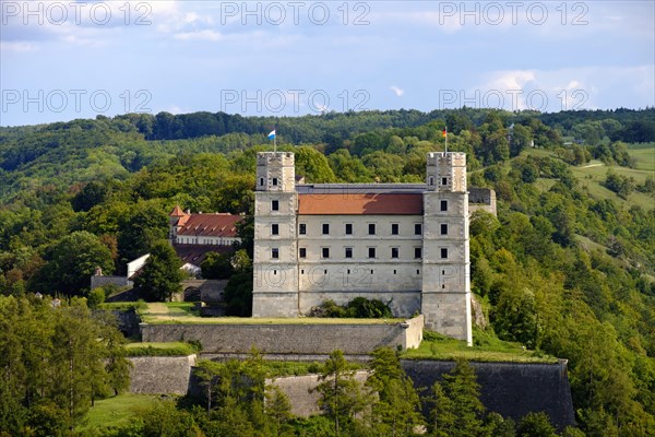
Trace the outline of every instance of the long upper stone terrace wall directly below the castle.
<path fill-rule="evenodd" d="M 368 354 L 376 347 L 418 347 L 422 316 L 389 324 L 141 324 L 144 342 L 200 341 L 203 352 L 270 354 Z"/>

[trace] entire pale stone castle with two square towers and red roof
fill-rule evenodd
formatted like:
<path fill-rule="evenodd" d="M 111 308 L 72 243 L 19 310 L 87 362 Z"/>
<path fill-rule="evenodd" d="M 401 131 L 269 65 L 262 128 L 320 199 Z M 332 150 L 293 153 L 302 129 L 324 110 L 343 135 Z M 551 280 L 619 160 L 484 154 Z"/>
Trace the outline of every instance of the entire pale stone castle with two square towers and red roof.
<path fill-rule="evenodd" d="M 259 153 L 253 265 L 253 317 L 362 296 L 471 344 L 466 155 L 429 153 L 426 184 L 296 185 L 293 153 Z"/>

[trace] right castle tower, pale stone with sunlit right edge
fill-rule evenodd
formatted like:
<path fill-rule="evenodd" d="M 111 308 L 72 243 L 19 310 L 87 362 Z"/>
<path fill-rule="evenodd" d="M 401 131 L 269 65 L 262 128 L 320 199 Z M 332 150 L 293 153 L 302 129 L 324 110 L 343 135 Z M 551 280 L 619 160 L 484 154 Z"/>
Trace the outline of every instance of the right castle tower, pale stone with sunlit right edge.
<path fill-rule="evenodd" d="M 471 345 L 466 154 L 428 153 L 421 312 L 426 326 Z"/>

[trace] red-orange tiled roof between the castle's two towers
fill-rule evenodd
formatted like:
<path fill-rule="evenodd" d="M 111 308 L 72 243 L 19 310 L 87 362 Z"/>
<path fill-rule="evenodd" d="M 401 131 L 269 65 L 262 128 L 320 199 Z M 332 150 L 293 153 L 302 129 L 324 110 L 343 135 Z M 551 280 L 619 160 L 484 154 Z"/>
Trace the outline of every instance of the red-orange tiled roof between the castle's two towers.
<path fill-rule="evenodd" d="M 422 215 L 421 194 L 299 194 L 301 215 Z"/>

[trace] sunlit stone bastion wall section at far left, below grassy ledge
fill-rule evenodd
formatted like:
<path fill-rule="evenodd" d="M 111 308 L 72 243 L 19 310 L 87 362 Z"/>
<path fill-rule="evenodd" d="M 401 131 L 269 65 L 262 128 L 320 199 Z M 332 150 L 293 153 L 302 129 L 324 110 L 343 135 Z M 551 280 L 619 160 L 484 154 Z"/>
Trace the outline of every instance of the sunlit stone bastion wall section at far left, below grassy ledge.
<path fill-rule="evenodd" d="M 138 394 L 187 394 L 195 355 L 138 356 L 129 358 L 130 392 Z"/>

